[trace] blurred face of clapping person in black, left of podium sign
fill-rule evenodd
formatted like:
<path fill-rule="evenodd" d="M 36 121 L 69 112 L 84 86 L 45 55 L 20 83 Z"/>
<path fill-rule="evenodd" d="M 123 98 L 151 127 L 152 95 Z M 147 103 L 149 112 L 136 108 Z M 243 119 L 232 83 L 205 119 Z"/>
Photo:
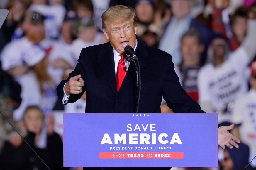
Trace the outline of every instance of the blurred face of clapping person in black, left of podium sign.
<path fill-rule="evenodd" d="M 38 109 L 29 109 L 24 113 L 24 123 L 30 132 L 40 134 L 43 122 L 43 113 Z"/>

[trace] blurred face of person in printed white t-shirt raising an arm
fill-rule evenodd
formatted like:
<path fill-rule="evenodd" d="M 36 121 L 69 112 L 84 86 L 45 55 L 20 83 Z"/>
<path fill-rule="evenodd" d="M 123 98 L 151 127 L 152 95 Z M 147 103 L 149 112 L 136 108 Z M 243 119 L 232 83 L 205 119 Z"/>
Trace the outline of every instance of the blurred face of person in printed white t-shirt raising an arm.
<path fill-rule="evenodd" d="M 212 41 L 212 47 L 213 47 L 214 59 L 216 58 L 223 59 L 227 50 L 226 41 L 223 38 L 216 38 Z"/>

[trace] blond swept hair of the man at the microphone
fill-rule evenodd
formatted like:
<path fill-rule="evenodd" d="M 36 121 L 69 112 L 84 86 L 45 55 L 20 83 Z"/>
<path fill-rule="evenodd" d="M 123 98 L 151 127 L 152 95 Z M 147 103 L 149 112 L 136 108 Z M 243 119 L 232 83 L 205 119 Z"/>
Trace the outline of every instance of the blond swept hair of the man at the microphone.
<path fill-rule="evenodd" d="M 102 29 L 106 29 L 108 23 L 122 23 L 130 19 L 133 21 L 133 26 L 138 25 L 135 10 L 124 5 L 111 6 L 102 14 L 101 18 Z"/>

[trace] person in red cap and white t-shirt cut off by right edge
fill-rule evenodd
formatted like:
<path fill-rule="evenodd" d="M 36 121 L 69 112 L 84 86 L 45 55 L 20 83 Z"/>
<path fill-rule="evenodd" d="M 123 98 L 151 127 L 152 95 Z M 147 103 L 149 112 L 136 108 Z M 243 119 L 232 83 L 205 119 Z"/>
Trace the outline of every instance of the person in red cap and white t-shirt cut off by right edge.
<path fill-rule="evenodd" d="M 241 141 L 249 145 L 256 154 L 256 60 L 250 64 L 249 82 L 251 89 L 235 101 L 231 122 L 239 125 L 234 130 L 240 133 Z"/>

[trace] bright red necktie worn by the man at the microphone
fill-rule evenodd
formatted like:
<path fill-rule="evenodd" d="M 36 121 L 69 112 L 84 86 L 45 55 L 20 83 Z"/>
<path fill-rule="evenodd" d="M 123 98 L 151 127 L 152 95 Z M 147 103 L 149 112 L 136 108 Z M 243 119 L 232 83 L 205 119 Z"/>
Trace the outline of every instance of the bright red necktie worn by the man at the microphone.
<path fill-rule="evenodd" d="M 123 60 L 123 54 L 120 54 L 121 56 L 121 59 L 119 60 L 118 62 L 118 65 L 117 65 L 117 71 L 116 71 L 116 88 L 117 88 L 117 91 L 119 91 L 120 87 L 121 87 L 121 84 L 123 82 L 123 79 L 126 75 L 126 67 L 125 67 L 125 63 L 124 63 L 124 60 Z"/>

